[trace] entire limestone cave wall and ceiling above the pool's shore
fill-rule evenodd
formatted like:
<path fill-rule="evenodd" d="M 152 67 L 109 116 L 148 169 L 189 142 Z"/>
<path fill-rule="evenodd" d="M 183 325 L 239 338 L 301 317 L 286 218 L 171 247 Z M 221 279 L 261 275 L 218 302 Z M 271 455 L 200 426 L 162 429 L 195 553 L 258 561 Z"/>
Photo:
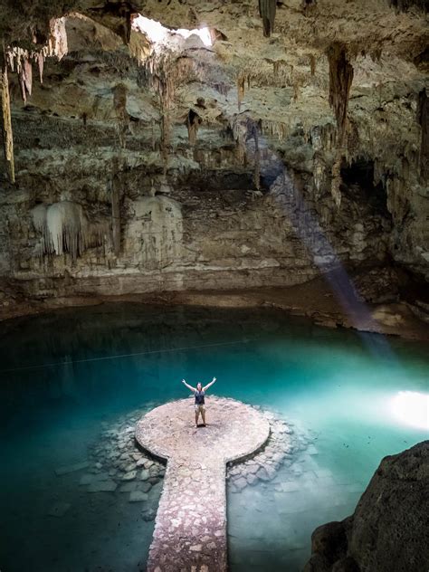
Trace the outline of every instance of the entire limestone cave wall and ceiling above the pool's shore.
<path fill-rule="evenodd" d="M 78 8 L 36 1 L 29 38 L 0 7 L 15 66 L 0 277 L 32 296 L 286 285 L 339 263 L 428 280 L 421 3 L 277 3 L 270 38 L 257 3 Z M 159 52 L 138 11 L 207 26 L 212 44 L 173 29 Z M 60 16 L 61 50 L 41 70 Z M 84 224 L 64 220 L 65 252 L 49 253 L 31 212 L 61 204 Z"/>

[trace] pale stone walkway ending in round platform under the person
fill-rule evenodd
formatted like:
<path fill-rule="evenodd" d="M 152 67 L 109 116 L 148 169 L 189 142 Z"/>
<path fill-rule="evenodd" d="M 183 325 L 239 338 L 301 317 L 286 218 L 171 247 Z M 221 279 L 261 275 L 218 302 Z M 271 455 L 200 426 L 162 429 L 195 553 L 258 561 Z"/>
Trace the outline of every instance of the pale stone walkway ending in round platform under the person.
<path fill-rule="evenodd" d="M 270 424 L 251 405 L 206 402 L 206 427 L 194 425 L 193 399 L 161 405 L 137 424 L 138 443 L 167 459 L 148 572 L 226 570 L 226 462 L 260 449 Z"/>

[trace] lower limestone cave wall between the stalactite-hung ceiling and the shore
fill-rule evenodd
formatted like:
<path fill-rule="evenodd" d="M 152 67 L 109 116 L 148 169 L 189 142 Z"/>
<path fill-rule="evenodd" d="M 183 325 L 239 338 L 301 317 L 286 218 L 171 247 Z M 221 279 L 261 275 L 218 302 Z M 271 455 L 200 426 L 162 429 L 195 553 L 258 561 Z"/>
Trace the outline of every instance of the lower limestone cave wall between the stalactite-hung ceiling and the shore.
<path fill-rule="evenodd" d="M 164 184 L 166 194 L 152 195 L 149 188 L 148 195 L 136 195 L 135 188 L 122 188 L 118 255 L 110 230 L 78 257 L 67 249 L 43 253 L 43 232 L 31 211 L 54 195 L 50 199 L 37 188 L 9 193 L 0 205 L 1 272 L 33 296 L 51 296 L 288 285 L 339 261 L 384 260 L 390 231 L 384 217 L 345 201 L 344 215 L 337 221 L 329 216 L 324 228 L 317 213 L 331 212 L 330 197 L 316 203 L 304 184 L 299 192 L 289 176 L 279 179 L 260 195 L 245 188 L 198 190 L 192 180 L 190 186 Z M 108 196 L 66 195 L 92 224 L 97 216 L 110 220 Z M 362 222 L 346 228 L 348 216 L 357 212 Z"/>

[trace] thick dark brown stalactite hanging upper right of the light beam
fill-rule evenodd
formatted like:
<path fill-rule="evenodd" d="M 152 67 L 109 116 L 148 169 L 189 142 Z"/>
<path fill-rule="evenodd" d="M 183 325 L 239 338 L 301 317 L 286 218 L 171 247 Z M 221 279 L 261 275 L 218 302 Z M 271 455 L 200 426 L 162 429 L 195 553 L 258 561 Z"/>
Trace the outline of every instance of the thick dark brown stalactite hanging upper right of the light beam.
<path fill-rule="evenodd" d="M 338 126 L 338 145 L 342 146 L 347 123 L 348 98 L 353 81 L 353 66 L 348 62 L 346 48 L 333 43 L 328 49 L 329 104 L 334 110 Z"/>

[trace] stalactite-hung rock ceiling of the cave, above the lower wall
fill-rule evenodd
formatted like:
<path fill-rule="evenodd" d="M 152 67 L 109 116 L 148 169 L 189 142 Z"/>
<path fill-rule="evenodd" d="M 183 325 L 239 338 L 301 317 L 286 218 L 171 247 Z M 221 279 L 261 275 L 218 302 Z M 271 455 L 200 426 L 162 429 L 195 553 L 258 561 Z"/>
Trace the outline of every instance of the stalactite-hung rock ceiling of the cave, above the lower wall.
<path fill-rule="evenodd" d="M 138 14 L 169 28 L 164 43 Z M 281 164 L 335 217 L 357 166 L 386 193 L 396 259 L 429 272 L 425 0 L 10 0 L 0 36 L 16 178 L 2 158 L 2 186 L 30 192 L 28 208 L 78 187 L 114 208 L 117 172 L 131 199 L 205 170 L 261 195 Z"/>

